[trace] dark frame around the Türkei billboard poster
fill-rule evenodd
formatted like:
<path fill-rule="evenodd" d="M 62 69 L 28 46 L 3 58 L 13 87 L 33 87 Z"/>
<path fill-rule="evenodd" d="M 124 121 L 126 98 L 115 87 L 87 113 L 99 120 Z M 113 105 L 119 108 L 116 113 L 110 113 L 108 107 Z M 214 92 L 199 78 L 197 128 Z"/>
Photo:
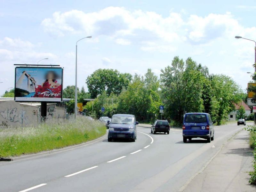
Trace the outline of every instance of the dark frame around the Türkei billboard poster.
<path fill-rule="evenodd" d="M 31 65 L 32 66 L 32 65 Z M 38 65 L 39 66 L 39 65 Z M 47 102 L 47 103 L 60 103 L 63 101 L 63 69 L 62 67 L 50 67 L 52 65 L 44 65 L 45 67 L 43 66 L 40 66 L 40 67 L 37 67 L 37 65 L 33 65 L 32 67 L 30 67 L 29 65 L 26 65 L 26 66 L 20 66 L 20 67 L 15 67 L 15 82 L 14 82 L 14 100 L 16 102 L 36 102 L 36 103 L 40 103 L 40 102 Z M 16 90 L 16 69 L 17 68 L 47 68 L 47 69 L 61 69 L 61 97 L 60 97 L 60 101 L 51 101 L 51 100 L 48 100 L 48 98 L 41 98 L 41 97 L 37 97 L 38 100 L 35 99 L 35 101 L 33 100 L 16 100 L 16 95 L 15 95 L 15 90 Z"/>

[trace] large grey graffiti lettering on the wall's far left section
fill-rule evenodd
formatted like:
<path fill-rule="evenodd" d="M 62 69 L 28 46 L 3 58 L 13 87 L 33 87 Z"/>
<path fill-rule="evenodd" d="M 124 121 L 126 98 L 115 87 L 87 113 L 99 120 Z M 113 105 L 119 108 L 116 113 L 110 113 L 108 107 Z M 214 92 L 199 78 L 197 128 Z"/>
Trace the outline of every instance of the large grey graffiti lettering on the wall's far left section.
<path fill-rule="evenodd" d="M 26 111 L 23 109 L 18 110 L 17 108 L 6 108 L 4 111 L 0 111 L 0 117 L 13 123 L 20 122 L 22 125 L 29 123 Z"/>

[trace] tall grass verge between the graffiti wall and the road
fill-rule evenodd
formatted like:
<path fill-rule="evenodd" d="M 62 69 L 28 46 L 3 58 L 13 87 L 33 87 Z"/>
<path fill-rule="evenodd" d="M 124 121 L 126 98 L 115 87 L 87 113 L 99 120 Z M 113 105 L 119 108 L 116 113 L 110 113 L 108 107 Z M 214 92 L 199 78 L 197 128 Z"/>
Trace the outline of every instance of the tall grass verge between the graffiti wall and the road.
<path fill-rule="evenodd" d="M 37 126 L 0 130 L 0 157 L 38 153 L 97 139 L 106 126 L 84 117 L 65 122 L 50 121 Z"/>

